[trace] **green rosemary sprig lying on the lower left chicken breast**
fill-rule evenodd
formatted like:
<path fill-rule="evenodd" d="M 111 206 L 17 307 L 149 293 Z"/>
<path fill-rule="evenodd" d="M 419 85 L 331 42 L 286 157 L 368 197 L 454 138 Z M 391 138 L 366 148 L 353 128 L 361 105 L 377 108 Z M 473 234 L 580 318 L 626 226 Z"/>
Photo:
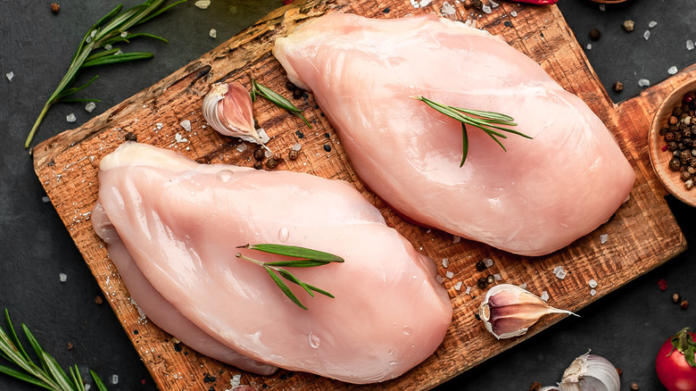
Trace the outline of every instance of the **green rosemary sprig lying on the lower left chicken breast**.
<path fill-rule="evenodd" d="M 240 245 L 237 248 L 248 248 L 249 250 L 257 250 L 263 253 L 286 255 L 298 258 L 294 260 L 280 262 L 261 262 L 253 258 L 244 256 L 243 254 L 236 254 L 237 258 L 242 258 L 245 261 L 252 262 L 263 267 L 263 269 L 265 269 L 269 273 L 269 276 L 271 279 L 273 279 L 273 282 L 275 282 L 276 285 L 278 285 L 280 290 L 283 291 L 283 293 L 286 294 L 286 296 L 290 300 L 292 300 L 294 304 L 297 304 L 297 306 L 299 306 L 303 310 L 307 310 L 307 307 L 304 304 L 302 304 L 302 302 L 300 301 L 300 299 L 297 298 L 296 295 L 294 295 L 293 291 L 290 289 L 290 287 L 286 285 L 283 279 L 286 279 L 292 282 L 293 284 L 299 285 L 309 295 L 311 295 L 311 297 L 314 297 L 314 292 L 317 292 L 321 295 L 326 295 L 331 298 L 335 297 L 327 291 L 319 289 L 319 287 L 314 287 L 310 284 L 302 282 L 302 280 L 298 279 L 291 272 L 287 271 L 284 268 L 312 268 L 316 266 L 323 266 L 331 262 L 344 262 L 344 259 L 340 256 L 324 253 L 317 250 L 311 250 L 309 248 L 297 247 L 294 245 Z M 281 279 L 281 277 L 283 279 Z"/>

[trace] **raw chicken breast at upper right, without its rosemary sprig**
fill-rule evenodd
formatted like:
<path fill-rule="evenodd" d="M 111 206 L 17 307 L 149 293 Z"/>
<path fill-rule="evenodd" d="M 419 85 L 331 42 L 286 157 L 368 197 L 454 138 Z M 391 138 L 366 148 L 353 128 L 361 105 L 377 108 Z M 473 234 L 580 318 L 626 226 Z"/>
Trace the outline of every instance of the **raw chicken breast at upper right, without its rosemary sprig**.
<path fill-rule="evenodd" d="M 435 15 L 328 14 L 278 38 L 288 79 L 311 90 L 355 171 L 418 223 L 524 255 L 549 254 L 609 220 L 635 173 L 601 120 L 499 37 Z M 507 153 L 412 98 L 502 112 Z"/>

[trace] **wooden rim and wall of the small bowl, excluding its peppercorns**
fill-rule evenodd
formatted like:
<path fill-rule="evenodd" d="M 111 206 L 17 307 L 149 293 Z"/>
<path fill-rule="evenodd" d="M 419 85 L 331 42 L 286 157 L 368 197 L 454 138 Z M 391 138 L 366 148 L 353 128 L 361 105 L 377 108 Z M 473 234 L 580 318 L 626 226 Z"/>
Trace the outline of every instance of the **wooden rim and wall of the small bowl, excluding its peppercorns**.
<path fill-rule="evenodd" d="M 691 190 L 684 187 L 684 181 L 680 178 L 679 171 L 673 171 L 669 168 L 669 161 L 672 159 L 672 152 L 662 149 L 667 146 L 665 137 L 659 135 L 659 129 L 667 125 L 669 117 L 672 115 L 672 110 L 677 104 L 682 104 L 684 94 L 696 90 L 696 79 L 691 79 L 684 84 L 676 87 L 671 94 L 665 98 L 662 104 L 659 105 L 655 117 L 650 125 L 648 133 L 648 145 L 650 146 L 650 163 L 652 169 L 658 174 L 658 178 L 662 185 L 667 187 L 667 191 L 674 195 L 679 200 L 686 204 L 696 206 L 696 186 Z M 696 118 L 694 118 L 696 121 Z M 696 179 L 694 180 L 696 181 Z"/>

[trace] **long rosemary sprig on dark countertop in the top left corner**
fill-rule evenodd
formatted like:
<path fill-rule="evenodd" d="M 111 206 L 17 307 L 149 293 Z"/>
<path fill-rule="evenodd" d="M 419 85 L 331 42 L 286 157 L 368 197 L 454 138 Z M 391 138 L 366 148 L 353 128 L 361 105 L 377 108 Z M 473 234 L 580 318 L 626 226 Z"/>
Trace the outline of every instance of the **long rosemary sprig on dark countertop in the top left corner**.
<path fill-rule="evenodd" d="M 28 148 L 31 144 L 31 140 L 34 139 L 34 135 L 36 135 L 41 121 L 44 120 L 46 112 L 48 112 L 48 109 L 51 108 L 52 105 L 58 102 L 99 102 L 98 99 L 65 99 L 67 96 L 75 94 L 79 90 L 89 86 L 97 78 L 95 76 L 80 87 L 72 87 L 80 70 L 98 65 L 144 60 L 153 57 L 152 53 L 121 53 L 118 48 L 94 52 L 97 49 L 104 48 L 104 46 L 112 46 L 119 43 L 127 44 L 129 39 L 135 37 L 151 37 L 167 42 L 163 37 L 153 36 L 152 34 L 128 33 L 128 29 L 151 20 L 153 17 L 169 10 L 177 4 L 186 2 L 186 0 L 179 0 L 174 4 L 162 6 L 165 1 L 166 0 L 147 0 L 145 3 L 136 5 L 123 13 L 120 13 L 123 4 L 119 4 L 87 30 L 87 34 L 82 38 L 78 49 L 72 56 L 68 71 L 65 73 L 65 76 L 62 77 L 54 93 L 48 97 L 46 104 L 44 104 L 43 109 L 41 109 L 41 112 L 38 114 L 37 121 L 34 122 L 34 126 L 29 131 L 29 137 L 27 137 L 27 140 L 24 142 L 25 148 Z"/>

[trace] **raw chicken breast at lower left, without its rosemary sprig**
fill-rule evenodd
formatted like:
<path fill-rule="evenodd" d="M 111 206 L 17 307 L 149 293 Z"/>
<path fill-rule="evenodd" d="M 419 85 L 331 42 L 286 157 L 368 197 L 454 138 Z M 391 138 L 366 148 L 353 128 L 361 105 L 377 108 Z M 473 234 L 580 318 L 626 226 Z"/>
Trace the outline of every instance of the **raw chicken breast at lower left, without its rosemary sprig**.
<path fill-rule="evenodd" d="M 244 369 L 278 366 L 352 383 L 393 379 L 433 354 L 452 320 L 435 263 L 344 181 L 199 165 L 127 143 L 100 163 L 94 219 L 113 261 L 128 268 L 124 281 L 137 303 L 164 303 L 160 319 L 184 317 L 195 338 L 200 329 L 249 357 Z M 288 284 L 309 308 L 302 310 L 261 266 L 235 256 L 285 258 L 237 248 L 250 243 L 342 256 L 343 263 L 292 269 L 336 298 Z"/>

